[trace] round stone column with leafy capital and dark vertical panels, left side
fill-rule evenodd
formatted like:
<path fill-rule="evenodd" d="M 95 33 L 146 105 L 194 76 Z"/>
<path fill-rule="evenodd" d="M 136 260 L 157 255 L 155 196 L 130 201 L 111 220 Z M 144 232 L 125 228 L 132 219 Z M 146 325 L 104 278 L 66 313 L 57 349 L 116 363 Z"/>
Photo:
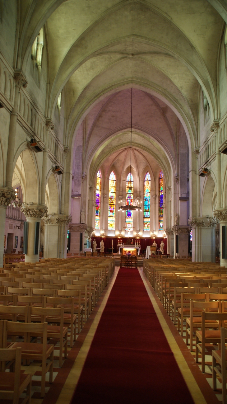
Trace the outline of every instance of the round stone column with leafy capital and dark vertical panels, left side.
<path fill-rule="evenodd" d="M 23 203 L 21 206 L 21 212 L 23 212 L 28 222 L 27 254 L 25 255 L 25 262 L 39 261 L 39 248 L 38 254 L 34 254 L 36 222 L 40 223 L 41 226 L 41 220 L 46 211 L 47 207 L 43 205 L 28 205 Z M 38 246 L 40 246 L 40 230 L 38 237 Z"/>

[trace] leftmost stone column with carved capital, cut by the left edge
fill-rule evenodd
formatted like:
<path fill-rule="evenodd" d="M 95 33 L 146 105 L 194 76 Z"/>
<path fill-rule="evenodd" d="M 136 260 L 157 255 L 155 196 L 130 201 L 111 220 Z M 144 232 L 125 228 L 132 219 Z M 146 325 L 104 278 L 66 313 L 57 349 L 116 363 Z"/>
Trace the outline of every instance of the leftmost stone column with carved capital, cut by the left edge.
<path fill-rule="evenodd" d="M 0 187 L 0 267 L 3 267 L 6 208 L 13 199 L 15 199 L 13 189 Z"/>

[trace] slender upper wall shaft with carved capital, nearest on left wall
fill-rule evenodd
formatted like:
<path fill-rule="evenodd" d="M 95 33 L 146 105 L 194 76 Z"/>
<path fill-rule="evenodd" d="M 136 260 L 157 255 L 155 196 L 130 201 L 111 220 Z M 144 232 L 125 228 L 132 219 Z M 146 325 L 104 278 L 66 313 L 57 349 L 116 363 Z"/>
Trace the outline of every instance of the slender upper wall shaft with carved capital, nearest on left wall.
<path fill-rule="evenodd" d="M 27 80 L 25 79 L 25 76 L 23 76 L 22 72 L 18 70 L 15 72 L 15 96 L 9 123 L 8 151 L 6 160 L 6 187 L 10 189 L 12 189 L 13 160 L 18 116 L 18 99 L 21 86 L 27 87 Z"/>

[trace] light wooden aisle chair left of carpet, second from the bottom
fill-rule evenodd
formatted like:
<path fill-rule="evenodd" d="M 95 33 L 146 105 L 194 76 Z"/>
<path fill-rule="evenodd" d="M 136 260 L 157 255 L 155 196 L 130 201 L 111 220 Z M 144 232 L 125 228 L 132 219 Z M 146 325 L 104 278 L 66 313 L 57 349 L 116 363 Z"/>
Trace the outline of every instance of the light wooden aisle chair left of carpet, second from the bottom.
<path fill-rule="evenodd" d="M 7 349 L 14 349 L 21 347 L 21 358 L 25 360 L 41 360 L 42 362 L 42 376 L 41 376 L 41 397 L 45 395 L 45 379 L 46 372 L 49 370 L 49 383 L 53 381 L 53 359 L 54 359 L 54 346 L 47 345 L 47 323 L 19 323 L 4 320 L 3 326 L 3 347 L 7 344 L 7 335 L 11 332 L 19 335 L 23 333 L 25 342 L 12 342 Z M 42 343 L 31 343 L 27 341 L 27 334 L 42 333 Z M 46 360 L 49 358 L 49 362 Z"/>

